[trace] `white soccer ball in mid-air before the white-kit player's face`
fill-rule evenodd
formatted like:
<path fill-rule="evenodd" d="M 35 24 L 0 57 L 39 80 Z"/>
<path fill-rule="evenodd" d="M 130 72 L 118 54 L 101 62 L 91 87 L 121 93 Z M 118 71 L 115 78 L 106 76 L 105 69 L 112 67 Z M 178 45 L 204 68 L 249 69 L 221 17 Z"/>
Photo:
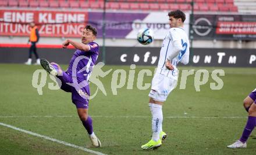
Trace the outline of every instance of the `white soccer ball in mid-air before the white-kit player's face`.
<path fill-rule="evenodd" d="M 142 28 L 140 29 L 140 31 L 138 31 L 137 40 L 142 45 L 148 45 L 154 40 L 153 36 L 154 36 L 154 33 L 152 29 Z"/>

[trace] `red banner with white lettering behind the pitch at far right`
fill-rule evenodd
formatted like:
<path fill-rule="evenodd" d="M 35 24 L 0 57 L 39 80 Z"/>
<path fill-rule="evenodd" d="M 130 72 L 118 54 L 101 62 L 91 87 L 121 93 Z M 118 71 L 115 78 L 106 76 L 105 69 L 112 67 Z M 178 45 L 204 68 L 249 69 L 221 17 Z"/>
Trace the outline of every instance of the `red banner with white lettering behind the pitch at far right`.
<path fill-rule="evenodd" d="M 256 34 L 256 22 L 219 21 L 216 34 Z"/>

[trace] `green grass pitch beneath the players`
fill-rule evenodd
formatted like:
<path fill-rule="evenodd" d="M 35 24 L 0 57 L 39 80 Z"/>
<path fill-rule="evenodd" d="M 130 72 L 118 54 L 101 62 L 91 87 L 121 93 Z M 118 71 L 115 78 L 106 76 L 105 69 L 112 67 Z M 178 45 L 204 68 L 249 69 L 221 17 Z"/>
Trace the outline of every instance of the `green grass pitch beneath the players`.
<path fill-rule="evenodd" d="M 66 69 L 66 65 L 61 65 Z M 140 146 L 151 139 L 151 114 L 147 90 L 136 86 L 141 69 L 136 67 L 133 89 L 127 89 L 129 66 L 105 66 L 102 69 L 124 69 L 126 83 L 113 95 L 112 73 L 104 78 L 106 96 L 98 91 L 90 101 L 89 115 L 93 117 L 94 132 L 101 140 L 101 148 L 90 147 L 87 132 L 80 123 L 71 94 L 62 90 L 49 90 L 52 80 L 42 88 L 42 95 L 31 84 L 33 72 L 42 69 L 36 65 L 0 64 L 0 122 L 23 130 L 49 136 L 74 145 L 87 147 L 104 154 L 255 154 L 256 132 L 247 141 L 247 149 L 227 149 L 240 138 L 247 120 L 243 99 L 256 87 L 255 68 L 205 68 L 209 81 L 195 91 L 194 75 L 187 78 L 186 89 L 177 88 L 163 105 L 163 131 L 168 134 L 157 150 L 145 151 Z M 211 90 L 211 71 L 223 69 L 225 76 L 221 90 Z M 152 76 L 145 76 L 150 83 Z M 91 92 L 96 90 L 91 84 Z M 6 117 L 8 116 L 8 117 Z M 37 136 L 0 126 L 0 154 L 88 154 Z"/>

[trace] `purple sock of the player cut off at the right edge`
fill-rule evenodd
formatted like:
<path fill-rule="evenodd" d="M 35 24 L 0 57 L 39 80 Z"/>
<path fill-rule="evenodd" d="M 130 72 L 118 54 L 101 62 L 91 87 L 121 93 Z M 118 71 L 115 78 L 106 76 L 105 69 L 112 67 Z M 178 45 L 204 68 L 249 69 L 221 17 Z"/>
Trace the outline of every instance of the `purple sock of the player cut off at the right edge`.
<path fill-rule="evenodd" d="M 256 125 L 256 117 L 248 116 L 246 127 L 244 127 L 243 134 L 239 139 L 241 142 L 245 143 L 247 141 L 255 125 Z"/>

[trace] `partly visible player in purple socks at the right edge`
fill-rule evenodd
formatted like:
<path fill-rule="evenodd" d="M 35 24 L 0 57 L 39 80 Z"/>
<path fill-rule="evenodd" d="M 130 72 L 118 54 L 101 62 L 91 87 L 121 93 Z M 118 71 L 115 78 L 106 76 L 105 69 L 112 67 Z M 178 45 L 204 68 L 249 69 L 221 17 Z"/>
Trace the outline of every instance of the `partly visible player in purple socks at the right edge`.
<path fill-rule="evenodd" d="M 247 124 L 244 127 L 241 138 L 234 142 L 232 145 L 227 146 L 228 148 L 234 149 L 247 147 L 246 141 L 256 126 L 256 88 L 244 99 L 244 108 L 248 112 Z"/>

